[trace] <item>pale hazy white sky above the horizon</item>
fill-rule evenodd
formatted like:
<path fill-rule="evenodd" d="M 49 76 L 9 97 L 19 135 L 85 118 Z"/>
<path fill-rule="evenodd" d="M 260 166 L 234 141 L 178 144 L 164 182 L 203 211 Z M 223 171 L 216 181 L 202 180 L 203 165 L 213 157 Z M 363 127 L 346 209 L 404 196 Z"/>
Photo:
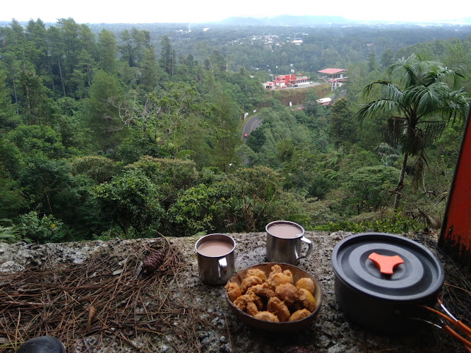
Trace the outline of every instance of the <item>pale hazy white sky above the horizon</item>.
<path fill-rule="evenodd" d="M 40 18 L 55 23 L 58 18 L 71 17 L 77 23 L 198 23 L 232 16 L 328 15 L 349 20 L 461 23 L 462 18 L 471 16 L 470 0 L 453 1 L 453 9 L 436 4 L 418 0 L 7 0 L 0 6 L 0 20 Z"/>

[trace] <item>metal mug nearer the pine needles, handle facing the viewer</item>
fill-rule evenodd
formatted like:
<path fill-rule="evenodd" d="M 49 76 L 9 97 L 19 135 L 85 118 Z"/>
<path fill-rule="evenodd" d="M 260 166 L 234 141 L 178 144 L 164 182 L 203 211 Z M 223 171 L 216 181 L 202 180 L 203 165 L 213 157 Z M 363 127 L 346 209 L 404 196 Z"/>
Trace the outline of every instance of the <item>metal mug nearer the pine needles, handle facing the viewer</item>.
<path fill-rule="evenodd" d="M 234 275 L 235 241 L 225 234 L 208 234 L 196 241 L 198 272 L 207 285 L 225 285 Z"/>

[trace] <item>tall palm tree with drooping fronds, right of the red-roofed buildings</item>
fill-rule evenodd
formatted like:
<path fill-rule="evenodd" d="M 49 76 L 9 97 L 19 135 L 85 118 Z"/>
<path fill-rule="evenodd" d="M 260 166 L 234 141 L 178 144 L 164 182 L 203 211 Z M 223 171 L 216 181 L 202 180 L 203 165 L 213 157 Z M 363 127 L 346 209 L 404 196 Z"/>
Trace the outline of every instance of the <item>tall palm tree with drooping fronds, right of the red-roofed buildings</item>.
<path fill-rule="evenodd" d="M 460 73 L 436 61 L 423 61 L 416 54 L 398 59 L 385 70 L 389 78 L 393 73 L 400 73 L 399 83 L 378 80 L 367 85 L 362 90 L 364 95 L 369 95 L 374 87 L 381 87 L 383 97 L 362 104 L 357 118 L 359 121 L 373 116 L 386 118 L 386 143 L 400 146 L 403 152 L 403 164 L 395 189 L 394 209 L 397 209 L 407 157 L 417 155 L 416 175 L 421 175 L 427 163 L 425 147 L 440 136 L 448 122 L 466 116 L 470 97 L 463 88 L 454 90 L 456 79 L 463 77 Z"/>

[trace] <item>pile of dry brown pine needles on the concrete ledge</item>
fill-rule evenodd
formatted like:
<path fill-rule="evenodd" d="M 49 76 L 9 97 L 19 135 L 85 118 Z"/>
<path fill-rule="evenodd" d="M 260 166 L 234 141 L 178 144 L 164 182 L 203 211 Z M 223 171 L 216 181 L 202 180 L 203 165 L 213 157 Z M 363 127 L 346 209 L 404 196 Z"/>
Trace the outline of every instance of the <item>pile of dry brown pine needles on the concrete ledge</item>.
<path fill-rule="evenodd" d="M 0 275 L 0 352 L 41 335 L 68 352 L 200 352 L 198 337 L 217 328 L 181 284 L 188 271 L 160 238 L 82 264 Z"/>

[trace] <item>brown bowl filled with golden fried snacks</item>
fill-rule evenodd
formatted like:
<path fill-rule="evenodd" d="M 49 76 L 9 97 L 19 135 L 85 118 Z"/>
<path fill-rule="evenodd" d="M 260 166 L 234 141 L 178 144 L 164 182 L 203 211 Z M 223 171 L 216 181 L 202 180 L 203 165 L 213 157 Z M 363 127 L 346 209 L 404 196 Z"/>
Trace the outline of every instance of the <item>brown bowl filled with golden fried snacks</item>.
<path fill-rule="evenodd" d="M 238 293 L 241 295 L 234 299 Z M 262 263 L 234 275 L 225 286 L 225 297 L 244 323 L 264 330 L 292 331 L 314 321 L 322 290 L 313 276 L 294 265 Z"/>

